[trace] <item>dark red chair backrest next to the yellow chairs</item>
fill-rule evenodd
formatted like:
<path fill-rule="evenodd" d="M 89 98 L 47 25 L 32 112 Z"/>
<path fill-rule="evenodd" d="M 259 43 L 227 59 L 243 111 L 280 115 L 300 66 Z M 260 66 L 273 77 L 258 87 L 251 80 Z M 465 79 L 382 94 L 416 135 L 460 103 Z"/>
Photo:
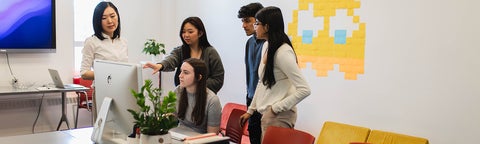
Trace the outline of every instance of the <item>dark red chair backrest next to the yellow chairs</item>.
<path fill-rule="evenodd" d="M 262 144 L 313 144 L 315 137 L 293 128 L 269 126 Z"/>

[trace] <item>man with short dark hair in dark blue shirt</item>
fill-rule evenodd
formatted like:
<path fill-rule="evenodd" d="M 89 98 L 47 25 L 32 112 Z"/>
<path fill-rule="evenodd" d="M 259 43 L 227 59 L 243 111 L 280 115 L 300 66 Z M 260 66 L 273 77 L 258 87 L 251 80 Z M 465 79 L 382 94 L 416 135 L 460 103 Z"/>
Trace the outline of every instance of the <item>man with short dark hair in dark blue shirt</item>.
<path fill-rule="evenodd" d="M 242 20 L 242 27 L 245 30 L 247 36 L 251 36 L 247 40 L 245 47 L 245 66 L 246 66 L 246 82 L 247 82 L 247 106 L 250 106 L 253 95 L 255 94 L 255 88 L 258 83 L 258 66 L 262 57 L 262 46 L 265 40 L 257 39 L 255 35 L 255 29 L 253 24 L 255 23 L 255 14 L 263 6 L 260 3 L 250 3 L 242 6 L 238 11 L 238 18 Z M 260 144 L 262 140 L 262 127 L 261 121 L 262 115 L 258 112 L 248 120 L 248 133 L 251 144 Z"/>

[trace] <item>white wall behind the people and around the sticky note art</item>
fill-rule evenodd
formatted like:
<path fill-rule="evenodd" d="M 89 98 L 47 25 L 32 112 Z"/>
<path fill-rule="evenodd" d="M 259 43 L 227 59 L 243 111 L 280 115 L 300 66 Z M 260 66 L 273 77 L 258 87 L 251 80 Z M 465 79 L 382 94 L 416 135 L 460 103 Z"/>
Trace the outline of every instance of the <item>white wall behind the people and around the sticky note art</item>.
<path fill-rule="evenodd" d="M 149 59 L 140 54 L 146 38 L 164 41 L 168 52 L 180 45 L 183 19 L 201 17 L 224 62 L 222 104 L 244 103 L 247 37 L 236 14 L 252 0 L 114 2 L 123 18 L 122 36 L 129 41 L 131 62 Z M 297 1 L 260 2 L 282 8 L 285 22 L 298 9 Z M 322 123 L 331 120 L 425 137 L 435 144 L 476 143 L 480 134 L 480 59 L 475 57 L 480 53 L 479 4 L 473 0 L 361 0 L 356 14 L 367 25 L 365 74 L 358 80 L 344 80 L 338 69 L 328 77 L 316 77 L 311 68 L 304 69 L 312 95 L 298 105 L 296 128 L 317 136 Z M 10 62 L 20 79 L 49 80 L 49 67 L 59 69 L 62 77 L 73 73 L 72 2 L 57 1 L 57 5 L 59 50 L 12 54 Z M 8 85 L 6 63 L 0 62 L 0 67 L 0 84 Z M 173 73 L 163 74 L 162 86 L 173 89 Z"/>

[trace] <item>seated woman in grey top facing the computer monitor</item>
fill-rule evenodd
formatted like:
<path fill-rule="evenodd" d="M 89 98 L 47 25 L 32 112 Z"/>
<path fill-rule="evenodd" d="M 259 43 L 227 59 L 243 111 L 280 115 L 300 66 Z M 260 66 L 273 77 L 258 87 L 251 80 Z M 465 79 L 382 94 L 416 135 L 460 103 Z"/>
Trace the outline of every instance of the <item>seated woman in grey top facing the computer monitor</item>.
<path fill-rule="evenodd" d="M 222 106 L 217 95 L 207 88 L 208 68 L 200 59 L 186 59 L 180 68 L 177 117 L 180 127 L 198 133 L 218 133 Z"/>

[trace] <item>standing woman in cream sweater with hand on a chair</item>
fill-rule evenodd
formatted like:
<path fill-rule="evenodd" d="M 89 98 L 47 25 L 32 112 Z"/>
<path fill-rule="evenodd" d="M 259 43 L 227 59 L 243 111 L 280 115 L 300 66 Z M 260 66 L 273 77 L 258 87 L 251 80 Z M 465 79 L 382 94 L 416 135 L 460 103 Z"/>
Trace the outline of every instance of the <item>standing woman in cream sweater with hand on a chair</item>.
<path fill-rule="evenodd" d="M 297 65 L 297 57 L 284 32 L 282 12 L 265 7 L 255 15 L 257 38 L 265 39 L 262 61 L 258 68 L 259 83 L 243 124 L 254 111 L 262 114 L 262 137 L 268 126 L 293 128 L 296 105 L 310 95 L 310 88 Z"/>

